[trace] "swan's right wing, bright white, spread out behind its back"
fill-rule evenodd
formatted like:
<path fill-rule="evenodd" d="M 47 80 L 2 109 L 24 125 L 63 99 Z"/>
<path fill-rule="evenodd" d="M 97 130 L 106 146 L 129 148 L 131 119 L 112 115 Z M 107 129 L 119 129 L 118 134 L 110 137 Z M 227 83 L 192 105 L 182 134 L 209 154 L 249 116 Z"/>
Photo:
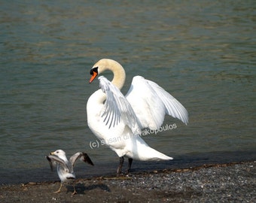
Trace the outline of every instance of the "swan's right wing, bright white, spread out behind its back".
<path fill-rule="evenodd" d="M 133 82 L 126 95 L 143 128 L 159 129 L 165 114 L 188 123 L 187 110 L 157 83 L 144 77 L 133 77 Z"/>

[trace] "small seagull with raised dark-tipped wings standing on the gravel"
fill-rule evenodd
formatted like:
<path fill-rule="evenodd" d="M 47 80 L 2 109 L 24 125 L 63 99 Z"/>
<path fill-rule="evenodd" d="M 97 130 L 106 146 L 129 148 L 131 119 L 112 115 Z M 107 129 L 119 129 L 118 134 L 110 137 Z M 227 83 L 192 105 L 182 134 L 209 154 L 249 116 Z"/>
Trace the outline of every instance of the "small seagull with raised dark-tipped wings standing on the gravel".
<path fill-rule="evenodd" d="M 93 165 L 93 162 L 91 161 L 87 153 L 81 153 L 81 152 L 75 153 L 68 160 L 66 157 L 66 153 L 63 150 L 56 150 L 55 152 L 52 152 L 48 156 L 46 156 L 46 159 L 50 164 L 51 171 L 53 171 L 53 165 L 57 165 L 57 173 L 60 179 L 60 186 L 59 186 L 59 189 L 54 193 L 60 192 L 60 189 L 62 188 L 63 183 L 65 182 L 69 183 L 75 179 L 75 173 L 73 171 L 73 168 L 75 166 L 75 162 L 78 159 L 81 159 L 81 161 L 84 161 L 90 165 Z M 72 195 L 75 195 L 77 194 L 77 192 L 75 191 L 75 186 L 73 187 L 74 187 L 74 192 L 72 193 Z"/>

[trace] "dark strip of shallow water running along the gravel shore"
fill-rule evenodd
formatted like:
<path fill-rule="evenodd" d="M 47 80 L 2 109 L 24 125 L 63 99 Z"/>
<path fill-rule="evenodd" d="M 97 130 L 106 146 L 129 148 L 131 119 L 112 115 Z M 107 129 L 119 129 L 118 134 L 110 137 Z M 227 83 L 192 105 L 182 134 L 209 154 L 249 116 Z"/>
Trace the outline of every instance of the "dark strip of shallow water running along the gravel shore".
<path fill-rule="evenodd" d="M 235 152 L 212 152 L 212 153 L 193 153 L 174 156 L 175 159 L 160 162 L 142 162 L 133 160 L 131 173 L 140 173 L 142 171 L 150 172 L 155 170 L 175 170 L 176 168 L 193 168 L 202 165 L 226 164 L 228 162 L 248 162 L 256 160 L 255 150 L 235 151 Z M 28 182 L 45 182 L 59 180 L 56 174 L 56 168 L 50 171 L 47 160 L 42 157 L 38 160 L 44 165 L 40 168 L 0 168 L 0 186 L 3 184 L 17 184 Z M 75 174 L 77 178 L 90 178 L 99 176 L 115 175 L 119 164 L 119 159 L 115 156 L 111 161 L 102 162 L 102 160 L 93 159 L 94 166 L 84 165 L 78 162 L 75 165 Z M 126 170 L 127 159 L 125 159 L 123 170 Z"/>

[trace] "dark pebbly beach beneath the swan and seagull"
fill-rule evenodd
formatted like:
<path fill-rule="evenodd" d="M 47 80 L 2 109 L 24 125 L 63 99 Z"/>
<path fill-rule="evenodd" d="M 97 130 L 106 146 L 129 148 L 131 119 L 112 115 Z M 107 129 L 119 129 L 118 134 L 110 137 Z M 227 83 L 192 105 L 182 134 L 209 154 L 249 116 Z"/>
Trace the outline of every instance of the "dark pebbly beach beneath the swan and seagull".
<path fill-rule="evenodd" d="M 256 202 L 256 161 L 0 186 L 1 202 Z"/>

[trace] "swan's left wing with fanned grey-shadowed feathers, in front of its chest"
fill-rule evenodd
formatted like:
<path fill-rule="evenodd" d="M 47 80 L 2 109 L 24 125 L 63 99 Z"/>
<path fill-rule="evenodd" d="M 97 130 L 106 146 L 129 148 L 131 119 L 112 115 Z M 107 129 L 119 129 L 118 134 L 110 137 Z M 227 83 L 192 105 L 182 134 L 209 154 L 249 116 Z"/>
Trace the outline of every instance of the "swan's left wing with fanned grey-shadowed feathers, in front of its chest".
<path fill-rule="evenodd" d="M 139 135 L 141 128 L 136 114 L 120 90 L 103 76 L 99 77 L 99 87 L 106 94 L 106 101 L 102 109 L 105 125 L 111 128 L 122 121 L 132 129 L 133 133 Z"/>

